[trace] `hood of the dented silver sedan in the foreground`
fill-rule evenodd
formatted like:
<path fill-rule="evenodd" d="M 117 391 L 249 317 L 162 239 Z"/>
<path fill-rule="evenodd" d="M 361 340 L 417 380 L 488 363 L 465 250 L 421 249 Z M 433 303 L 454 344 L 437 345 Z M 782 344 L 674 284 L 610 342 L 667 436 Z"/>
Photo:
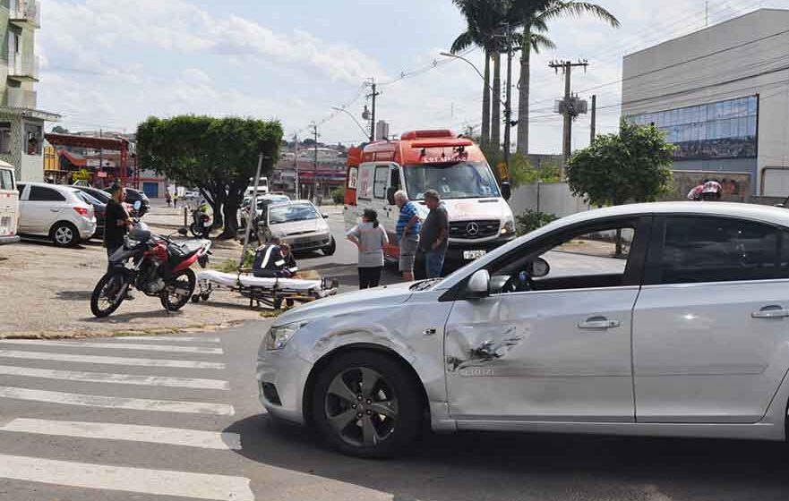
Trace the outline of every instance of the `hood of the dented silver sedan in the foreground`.
<path fill-rule="evenodd" d="M 274 325 L 282 326 L 292 322 L 347 314 L 358 315 L 361 311 L 371 308 L 402 304 L 413 294 L 413 291 L 410 290 L 411 285 L 413 283 L 383 285 L 374 289 L 341 293 L 318 301 L 308 302 L 279 315 Z"/>

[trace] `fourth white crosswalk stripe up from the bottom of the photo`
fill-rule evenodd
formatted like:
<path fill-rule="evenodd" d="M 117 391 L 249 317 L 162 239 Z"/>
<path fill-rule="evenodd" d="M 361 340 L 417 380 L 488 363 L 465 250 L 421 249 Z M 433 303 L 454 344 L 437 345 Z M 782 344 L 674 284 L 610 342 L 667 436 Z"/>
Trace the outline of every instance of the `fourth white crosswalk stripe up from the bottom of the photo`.
<path fill-rule="evenodd" d="M 222 379 L 176 378 L 168 376 L 142 376 L 138 374 L 113 374 L 109 372 L 82 372 L 78 370 L 36 369 L 0 365 L 0 374 L 26 378 L 57 379 L 87 383 L 112 383 L 116 385 L 167 386 L 205 390 L 229 390 L 230 385 Z"/>

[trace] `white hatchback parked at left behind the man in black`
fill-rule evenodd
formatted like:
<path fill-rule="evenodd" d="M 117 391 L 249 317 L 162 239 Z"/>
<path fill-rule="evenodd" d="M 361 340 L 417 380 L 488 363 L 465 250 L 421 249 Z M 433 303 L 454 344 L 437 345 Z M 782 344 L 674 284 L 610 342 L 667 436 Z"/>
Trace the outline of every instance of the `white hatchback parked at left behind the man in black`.
<path fill-rule="evenodd" d="M 93 206 L 73 186 L 19 183 L 19 233 L 43 235 L 56 245 L 68 247 L 96 233 Z"/>

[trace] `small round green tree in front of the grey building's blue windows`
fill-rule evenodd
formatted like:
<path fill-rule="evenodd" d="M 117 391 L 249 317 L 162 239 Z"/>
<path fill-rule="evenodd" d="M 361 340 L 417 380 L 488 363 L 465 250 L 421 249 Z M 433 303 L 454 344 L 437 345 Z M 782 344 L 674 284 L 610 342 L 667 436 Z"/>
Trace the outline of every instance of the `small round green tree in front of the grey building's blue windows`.
<path fill-rule="evenodd" d="M 674 149 L 654 125 L 622 119 L 618 134 L 597 136 L 570 157 L 567 183 L 574 195 L 596 206 L 655 201 L 671 188 Z M 618 232 L 616 253 L 622 253 Z"/>

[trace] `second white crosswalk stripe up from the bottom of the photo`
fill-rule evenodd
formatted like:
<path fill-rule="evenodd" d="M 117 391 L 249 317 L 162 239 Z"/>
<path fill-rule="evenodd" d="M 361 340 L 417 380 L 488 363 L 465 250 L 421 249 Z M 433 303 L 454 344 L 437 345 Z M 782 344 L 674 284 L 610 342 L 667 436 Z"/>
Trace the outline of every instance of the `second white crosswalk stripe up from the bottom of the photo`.
<path fill-rule="evenodd" d="M 169 446 L 201 447 L 204 449 L 240 450 L 237 433 L 202 431 L 200 429 L 165 428 L 106 422 L 32 420 L 20 418 L 0 427 L 0 431 L 53 435 L 60 437 L 100 438 L 148 442 Z"/>

